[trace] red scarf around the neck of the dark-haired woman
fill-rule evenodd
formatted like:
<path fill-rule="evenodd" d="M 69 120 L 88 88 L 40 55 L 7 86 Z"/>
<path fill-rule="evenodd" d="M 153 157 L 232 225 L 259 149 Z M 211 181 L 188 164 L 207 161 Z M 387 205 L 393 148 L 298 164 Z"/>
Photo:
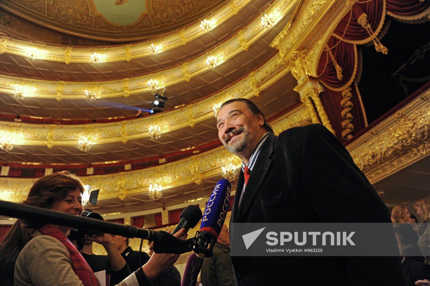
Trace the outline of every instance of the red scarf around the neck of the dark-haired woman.
<path fill-rule="evenodd" d="M 70 253 L 70 258 L 72 260 L 72 268 L 77 277 L 82 281 L 85 286 L 100 286 L 97 278 L 89 267 L 88 263 L 76 249 L 76 247 L 53 225 L 43 225 L 38 229 L 41 233 L 49 235 L 58 239 L 61 243 L 66 246 Z"/>

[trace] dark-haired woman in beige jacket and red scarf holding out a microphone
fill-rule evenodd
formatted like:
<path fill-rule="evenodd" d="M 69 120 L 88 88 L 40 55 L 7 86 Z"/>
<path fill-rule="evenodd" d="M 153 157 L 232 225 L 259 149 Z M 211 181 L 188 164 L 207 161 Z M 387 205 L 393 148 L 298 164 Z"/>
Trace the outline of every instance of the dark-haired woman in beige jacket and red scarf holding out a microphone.
<path fill-rule="evenodd" d="M 68 171 L 62 171 L 38 179 L 23 203 L 80 216 L 83 211 L 81 201 L 83 191 L 79 177 Z M 16 285 L 99 285 L 85 259 L 67 239 L 70 227 L 28 221 L 22 221 L 22 224 L 33 233 L 33 238 L 25 244 L 16 259 L 14 274 Z M 175 236 L 183 234 L 184 229 Z M 87 238 L 103 244 L 104 237 L 106 235 Z M 22 240 L 19 228 L 7 234 L 5 241 L 9 243 L 5 243 L 4 249 L 11 252 L 10 243 L 15 240 Z M 3 253 L 0 253 L 0 257 L 2 256 Z M 118 285 L 151 285 L 150 281 L 170 267 L 178 257 L 160 254 Z"/>

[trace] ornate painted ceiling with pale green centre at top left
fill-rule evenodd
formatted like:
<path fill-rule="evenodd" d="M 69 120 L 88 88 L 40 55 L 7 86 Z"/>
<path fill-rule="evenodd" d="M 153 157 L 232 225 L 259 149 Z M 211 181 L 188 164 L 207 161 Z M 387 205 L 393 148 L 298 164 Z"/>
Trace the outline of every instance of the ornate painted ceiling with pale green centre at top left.
<path fill-rule="evenodd" d="M 10 12 L 64 33 L 133 41 L 182 28 L 222 0 L 0 0 Z"/>

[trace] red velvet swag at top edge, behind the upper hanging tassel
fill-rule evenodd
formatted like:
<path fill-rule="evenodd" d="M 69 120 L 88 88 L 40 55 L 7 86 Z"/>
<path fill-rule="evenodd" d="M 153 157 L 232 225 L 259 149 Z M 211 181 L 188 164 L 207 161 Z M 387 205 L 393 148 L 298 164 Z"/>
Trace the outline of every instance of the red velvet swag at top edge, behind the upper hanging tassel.
<path fill-rule="evenodd" d="M 350 12 L 339 22 L 334 33 L 344 40 L 354 43 L 366 43 L 371 40 L 369 33 L 358 23 L 358 18 L 367 14 L 367 21 L 376 32 L 384 20 L 384 1 L 372 0 L 366 3 L 355 3 Z"/>

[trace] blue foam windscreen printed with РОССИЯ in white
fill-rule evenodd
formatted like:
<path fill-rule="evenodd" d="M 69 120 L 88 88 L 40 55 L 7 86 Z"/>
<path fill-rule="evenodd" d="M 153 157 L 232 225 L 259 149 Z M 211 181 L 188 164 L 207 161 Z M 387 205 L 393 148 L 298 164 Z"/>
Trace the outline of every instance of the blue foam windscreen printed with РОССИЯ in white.
<path fill-rule="evenodd" d="M 200 231 L 208 231 L 215 238 L 218 237 L 227 214 L 230 194 L 230 182 L 226 179 L 219 180 L 203 213 Z"/>

